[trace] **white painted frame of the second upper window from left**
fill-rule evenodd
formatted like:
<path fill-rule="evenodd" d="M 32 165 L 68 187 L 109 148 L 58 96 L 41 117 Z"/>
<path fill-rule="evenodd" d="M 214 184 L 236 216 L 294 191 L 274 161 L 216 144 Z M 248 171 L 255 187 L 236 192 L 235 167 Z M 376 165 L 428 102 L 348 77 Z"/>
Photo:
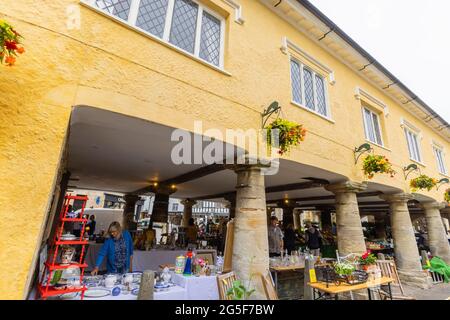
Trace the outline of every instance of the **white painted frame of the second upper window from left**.
<path fill-rule="evenodd" d="M 309 112 L 312 112 L 328 121 L 334 122 L 331 118 L 331 108 L 330 108 L 330 103 L 329 103 L 329 96 L 328 96 L 328 81 L 326 81 L 326 76 L 324 76 L 323 74 L 316 72 L 314 70 L 314 68 L 311 68 L 310 66 L 304 64 L 300 59 L 296 58 L 294 55 L 289 54 L 289 74 L 290 74 L 290 85 L 291 85 L 291 103 L 301 107 L 302 109 L 305 109 Z M 293 95 L 293 91 L 294 91 L 294 86 L 293 86 L 293 82 L 292 82 L 292 67 L 291 67 L 291 61 L 296 62 L 299 67 L 300 67 L 300 89 L 301 89 L 301 98 L 302 101 L 301 102 L 297 102 L 294 100 L 294 95 Z M 313 99 L 314 99 L 314 109 L 310 109 L 306 106 L 306 96 L 305 96 L 305 78 L 304 78 L 304 69 L 309 70 L 312 73 L 312 82 L 313 82 Z M 320 112 L 317 111 L 318 107 L 318 100 L 317 100 L 317 85 L 316 85 L 316 76 L 319 76 L 322 81 L 323 81 L 323 86 L 324 86 L 324 95 L 325 95 L 325 109 L 327 114 L 321 114 Z"/>

